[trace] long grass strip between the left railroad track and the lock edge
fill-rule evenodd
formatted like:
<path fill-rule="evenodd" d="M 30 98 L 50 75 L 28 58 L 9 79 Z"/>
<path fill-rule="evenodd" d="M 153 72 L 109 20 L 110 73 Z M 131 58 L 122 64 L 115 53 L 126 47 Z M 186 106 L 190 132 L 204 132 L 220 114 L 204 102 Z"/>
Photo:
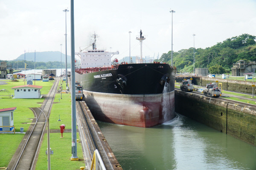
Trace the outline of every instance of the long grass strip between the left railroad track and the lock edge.
<path fill-rule="evenodd" d="M 65 85 L 65 84 L 64 84 Z M 70 94 L 55 94 L 55 104 L 52 106 L 51 115 L 49 118 L 50 129 L 60 129 L 60 125 L 64 124 L 65 129 L 71 129 L 71 97 Z M 60 101 L 60 102 L 59 102 Z M 61 122 L 58 122 L 60 115 Z M 77 153 L 79 161 L 70 161 L 72 133 L 50 133 L 50 145 L 54 154 L 51 155 L 51 168 L 54 170 L 79 170 L 79 167 L 85 166 L 81 144 L 77 143 Z M 78 134 L 78 133 L 77 133 Z M 79 139 L 79 135 L 77 135 Z M 47 148 L 47 135 L 44 136 L 44 141 L 36 164 L 36 170 L 47 169 L 47 155 L 45 154 Z M 80 161 L 81 159 L 81 161 Z"/>

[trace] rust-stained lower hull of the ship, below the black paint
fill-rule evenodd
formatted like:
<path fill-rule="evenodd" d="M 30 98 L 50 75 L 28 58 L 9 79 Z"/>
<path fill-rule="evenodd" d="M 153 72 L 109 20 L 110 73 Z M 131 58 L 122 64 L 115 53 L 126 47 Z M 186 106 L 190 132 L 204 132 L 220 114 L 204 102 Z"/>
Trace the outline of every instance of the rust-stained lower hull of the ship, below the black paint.
<path fill-rule="evenodd" d="M 84 95 L 94 118 L 103 122 L 152 127 L 175 117 L 174 91 L 148 95 L 84 91 Z"/>

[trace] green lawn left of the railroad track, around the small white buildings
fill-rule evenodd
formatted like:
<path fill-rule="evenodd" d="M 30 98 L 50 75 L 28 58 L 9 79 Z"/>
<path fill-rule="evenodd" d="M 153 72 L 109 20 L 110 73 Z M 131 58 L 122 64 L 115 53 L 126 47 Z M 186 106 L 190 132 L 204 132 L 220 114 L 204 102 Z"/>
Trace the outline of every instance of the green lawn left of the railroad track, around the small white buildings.
<path fill-rule="evenodd" d="M 0 85 L 0 89 L 7 89 L 14 95 L 14 89 L 12 87 L 18 85 L 24 85 L 24 82 L 10 82 L 7 81 L 7 85 Z M 52 82 L 36 81 L 36 85 L 41 85 L 41 94 L 48 94 L 52 87 Z M 7 93 L 0 93 L 0 95 L 7 95 Z M 12 108 L 17 107 L 14 111 L 14 125 L 15 131 L 19 132 L 20 127 L 24 127 L 24 132 L 29 128 L 30 124 L 26 122 L 32 122 L 34 118 L 33 112 L 29 108 L 40 107 L 38 102 L 43 102 L 44 99 L 12 99 L 8 96 L 0 96 L 0 108 Z M 9 161 L 11 161 L 13 154 L 15 153 L 20 141 L 24 134 L 0 134 L 0 167 L 7 167 Z"/>

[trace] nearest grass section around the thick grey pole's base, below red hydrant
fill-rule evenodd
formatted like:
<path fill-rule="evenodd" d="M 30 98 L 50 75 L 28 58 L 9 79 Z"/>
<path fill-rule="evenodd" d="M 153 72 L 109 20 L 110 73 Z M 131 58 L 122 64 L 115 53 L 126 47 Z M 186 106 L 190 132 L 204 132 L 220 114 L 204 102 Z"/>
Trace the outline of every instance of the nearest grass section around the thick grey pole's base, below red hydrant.
<path fill-rule="evenodd" d="M 85 166 L 81 143 L 77 143 L 77 156 L 79 157 L 79 161 L 70 161 L 70 157 L 72 156 L 71 134 L 72 133 L 63 133 L 64 138 L 60 138 L 61 133 L 50 133 L 50 147 L 53 150 L 53 155 L 51 155 L 52 170 L 79 170 L 79 167 Z M 77 133 L 77 139 L 79 139 L 79 133 Z M 47 170 L 47 155 L 45 154 L 46 150 L 47 134 L 44 135 L 44 141 L 42 143 L 41 150 L 38 156 L 38 161 L 35 167 L 36 170 Z"/>

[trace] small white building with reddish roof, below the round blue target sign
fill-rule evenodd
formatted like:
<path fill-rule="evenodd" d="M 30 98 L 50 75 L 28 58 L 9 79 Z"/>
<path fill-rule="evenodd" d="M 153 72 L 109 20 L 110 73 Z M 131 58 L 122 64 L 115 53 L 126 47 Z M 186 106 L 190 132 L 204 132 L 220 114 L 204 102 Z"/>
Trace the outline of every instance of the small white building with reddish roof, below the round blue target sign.
<path fill-rule="evenodd" d="M 40 85 L 20 85 L 14 88 L 14 99 L 37 99 L 41 98 Z"/>

